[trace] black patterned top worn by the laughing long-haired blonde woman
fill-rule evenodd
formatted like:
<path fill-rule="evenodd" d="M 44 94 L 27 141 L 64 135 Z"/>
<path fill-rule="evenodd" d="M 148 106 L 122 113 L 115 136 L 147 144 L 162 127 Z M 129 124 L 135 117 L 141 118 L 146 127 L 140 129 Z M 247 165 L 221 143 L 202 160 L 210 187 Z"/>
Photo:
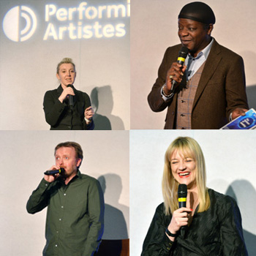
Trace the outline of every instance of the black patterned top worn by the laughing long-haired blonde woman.
<path fill-rule="evenodd" d="M 141 256 L 248 256 L 236 201 L 213 189 L 208 189 L 208 193 L 210 208 L 200 213 L 196 209 L 184 238 L 178 233 L 174 242 L 165 234 L 172 216 L 166 216 L 164 203 L 160 204 Z"/>

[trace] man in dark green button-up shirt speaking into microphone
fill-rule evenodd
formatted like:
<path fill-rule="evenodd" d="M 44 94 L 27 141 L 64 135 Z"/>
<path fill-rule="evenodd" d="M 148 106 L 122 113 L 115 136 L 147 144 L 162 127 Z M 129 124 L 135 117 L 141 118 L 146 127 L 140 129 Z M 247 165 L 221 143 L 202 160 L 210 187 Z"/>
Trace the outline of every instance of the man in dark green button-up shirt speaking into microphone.
<path fill-rule="evenodd" d="M 104 199 L 97 179 L 81 174 L 83 151 L 78 143 L 55 148 L 56 165 L 63 174 L 45 175 L 29 197 L 27 211 L 35 214 L 48 206 L 44 256 L 92 256 L 104 225 Z"/>

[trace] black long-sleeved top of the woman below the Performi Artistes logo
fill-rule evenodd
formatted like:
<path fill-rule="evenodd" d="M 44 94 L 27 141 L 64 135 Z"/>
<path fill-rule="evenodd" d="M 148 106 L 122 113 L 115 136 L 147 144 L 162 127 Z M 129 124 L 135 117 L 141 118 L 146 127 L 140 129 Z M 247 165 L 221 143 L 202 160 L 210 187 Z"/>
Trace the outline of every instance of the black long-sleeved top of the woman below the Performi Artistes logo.
<path fill-rule="evenodd" d="M 94 121 L 86 124 L 84 111 L 91 106 L 89 95 L 83 91 L 78 91 L 73 87 L 75 92 L 74 107 L 71 109 L 68 99 L 63 103 L 59 97 L 63 91 L 61 85 L 52 91 L 46 91 L 44 97 L 45 120 L 50 124 L 50 129 L 94 129 Z"/>

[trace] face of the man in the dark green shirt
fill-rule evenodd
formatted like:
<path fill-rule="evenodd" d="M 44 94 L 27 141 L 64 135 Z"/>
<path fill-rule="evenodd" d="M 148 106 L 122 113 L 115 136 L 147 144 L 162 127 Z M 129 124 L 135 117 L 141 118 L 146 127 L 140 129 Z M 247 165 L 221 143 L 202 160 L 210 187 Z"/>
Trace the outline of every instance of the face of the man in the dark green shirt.
<path fill-rule="evenodd" d="M 65 169 L 64 176 L 75 176 L 81 159 L 76 157 L 75 148 L 61 147 L 56 150 L 55 162 L 57 167 L 63 167 Z"/>

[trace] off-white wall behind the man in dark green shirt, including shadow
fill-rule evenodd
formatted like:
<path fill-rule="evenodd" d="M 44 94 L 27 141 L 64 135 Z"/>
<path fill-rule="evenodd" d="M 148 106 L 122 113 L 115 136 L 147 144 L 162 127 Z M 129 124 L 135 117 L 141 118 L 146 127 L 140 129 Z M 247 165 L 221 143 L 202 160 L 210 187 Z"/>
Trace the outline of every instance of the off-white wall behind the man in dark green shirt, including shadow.
<path fill-rule="evenodd" d="M 42 255 L 46 208 L 31 215 L 26 202 L 54 165 L 55 146 L 67 140 L 80 143 L 81 173 L 98 178 L 105 192 L 103 238 L 129 238 L 128 131 L 1 131 L 0 140 L 1 255 Z"/>

